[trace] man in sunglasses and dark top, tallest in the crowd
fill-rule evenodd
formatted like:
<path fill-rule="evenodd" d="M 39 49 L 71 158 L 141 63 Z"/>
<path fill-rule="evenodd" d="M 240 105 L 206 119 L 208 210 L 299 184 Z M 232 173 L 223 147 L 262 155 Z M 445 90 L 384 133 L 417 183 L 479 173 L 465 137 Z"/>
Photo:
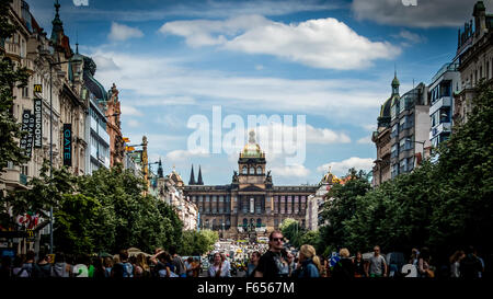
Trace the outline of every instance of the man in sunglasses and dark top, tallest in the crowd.
<path fill-rule="evenodd" d="M 259 260 L 255 277 L 287 277 L 289 266 L 282 256 L 284 249 L 284 237 L 279 230 L 274 230 L 268 235 L 268 251 Z"/>

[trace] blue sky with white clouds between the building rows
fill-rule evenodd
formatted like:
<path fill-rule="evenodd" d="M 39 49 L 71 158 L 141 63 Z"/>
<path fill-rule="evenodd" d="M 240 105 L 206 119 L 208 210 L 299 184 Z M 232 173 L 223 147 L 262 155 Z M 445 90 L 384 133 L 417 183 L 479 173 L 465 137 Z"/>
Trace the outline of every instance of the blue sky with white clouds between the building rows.
<path fill-rule="evenodd" d="M 50 33 L 53 2 L 27 2 Z M 230 183 L 238 166 L 241 148 L 213 153 L 214 106 L 220 122 L 236 115 L 245 126 L 249 115 L 278 115 L 283 129 L 296 130 L 305 116 L 302 163 L 264 149 L 274 184 L 289 185 L 316 184 L 329 166 L 337 175 L 370 170 L 370 135 L 394 66 L 401 94 L 413 81 L 429 84 L 454 58 L 474 2 L 61 0 L 60 18 L 72 48 L 78 41 L 96 62 L 96 79 L 117 85 L 124 135 L 133 143 L 146 135 L 150 162 L 161 158 L 165 172 L 175 165 L 186 182 L 192 164 L 205 184 Z M 209 152 L 187 146 L 194 115 L 208 119 Z"/>

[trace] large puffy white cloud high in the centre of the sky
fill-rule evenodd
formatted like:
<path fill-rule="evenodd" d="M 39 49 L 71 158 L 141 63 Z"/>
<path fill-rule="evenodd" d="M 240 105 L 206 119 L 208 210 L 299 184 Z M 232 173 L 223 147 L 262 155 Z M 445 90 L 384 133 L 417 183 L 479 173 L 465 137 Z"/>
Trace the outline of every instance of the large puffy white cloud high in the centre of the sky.
<path fill-rule="evenodd" d="M 313 68 L 362 69 L 377 59 L 392 59 L 401 49 L 388 42 L 371 42 L 333 18 L 284 24 L 261 15 L 226 21 L 173 21 L 163 34 L 185 37 L 192 47 L 220 46 L 248 54 L 267 54 Z"/>

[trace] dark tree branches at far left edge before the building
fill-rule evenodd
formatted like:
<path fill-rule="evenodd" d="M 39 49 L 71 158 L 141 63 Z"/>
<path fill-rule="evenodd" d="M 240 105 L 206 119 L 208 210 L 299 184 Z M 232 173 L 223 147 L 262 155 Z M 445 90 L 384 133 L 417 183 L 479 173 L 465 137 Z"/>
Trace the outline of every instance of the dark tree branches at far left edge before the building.
<path fill-rule="evenodd" d="M 0 2 L 0 41 L 4 41 L 15 33 L 15 26 L 9 23 L 9 10 L 12 0 Z M 0 53 L 0 172 L 8 162 L 21 164 L 28 159 L 19 147 L 19 139 L 26 133 L 12 114 L 13 89 L 27 84 L 30 74 L 25 67 L 16 68 L 10 58 Z M 2 196 L 2 194 L 0 194 Z"/>

